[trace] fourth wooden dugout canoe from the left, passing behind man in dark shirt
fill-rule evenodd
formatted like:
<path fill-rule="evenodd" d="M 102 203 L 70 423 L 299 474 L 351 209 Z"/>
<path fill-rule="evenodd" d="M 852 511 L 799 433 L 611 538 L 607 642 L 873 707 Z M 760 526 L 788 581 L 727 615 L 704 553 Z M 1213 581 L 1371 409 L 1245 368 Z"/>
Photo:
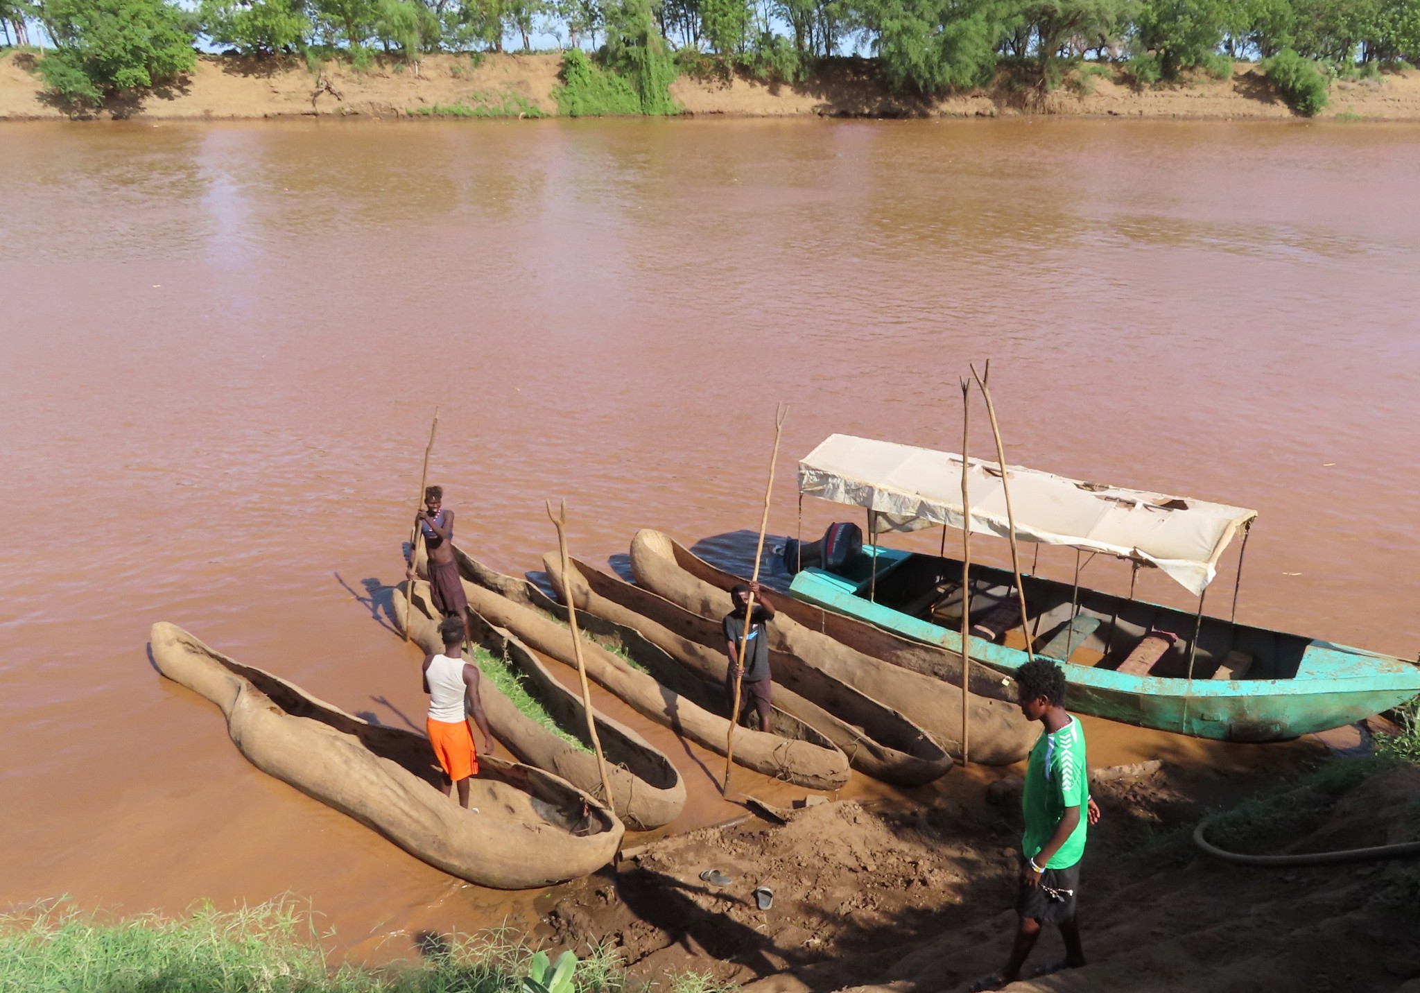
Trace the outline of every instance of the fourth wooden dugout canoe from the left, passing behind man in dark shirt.
<path fill-rule="evenodd" d="M 548 553 L 542 565 L 567 602 L 558 555 Z M 579 611 L 635 628 L 700 679 L 724 685 L 730 661 L 720 624 L 584 563 L 574 560 L 572 573 Z M 922 727 L 797 655 L 771 649 L 770 671 L 775 706 L 822 732 L 855 770 L 896 786 L 922 786 L 951 769 L 951 757 Z"/>

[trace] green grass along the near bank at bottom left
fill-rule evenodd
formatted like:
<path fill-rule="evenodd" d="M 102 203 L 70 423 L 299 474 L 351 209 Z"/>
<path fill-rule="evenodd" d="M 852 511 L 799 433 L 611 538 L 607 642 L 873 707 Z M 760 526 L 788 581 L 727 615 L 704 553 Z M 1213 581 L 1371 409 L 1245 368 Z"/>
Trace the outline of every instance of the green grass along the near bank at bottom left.
<path fill-rule="evenodd" d="M 383 969 L 332 966 L 315 916 L 291 899 L 187 916 L 108 921 L 64 901 L 0 916 L 0 989 L 27 993 L 514 993 L 537 972 L 508 929 L 440 936 L 423 957 Z M 727 993 L 697 973 L 667 993 Z M 650 989 L 650 987 L 645 987 Z M 630 993 L 616 952 L 575 963 L 574 993 Z"/>

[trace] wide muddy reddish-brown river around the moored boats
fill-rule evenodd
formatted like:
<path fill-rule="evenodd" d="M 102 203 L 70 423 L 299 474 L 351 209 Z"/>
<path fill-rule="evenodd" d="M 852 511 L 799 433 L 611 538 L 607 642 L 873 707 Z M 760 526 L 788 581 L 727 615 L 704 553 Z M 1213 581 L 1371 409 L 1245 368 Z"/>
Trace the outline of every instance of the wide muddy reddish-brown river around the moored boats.
<path fill-rule="evenodd" d="M 535 921 L 258 773 L 145 652 L 173 621 L 422 727 L 371 590 L 435 405 L 430 482 L 490 564 L 538 568 L 567 497 L 584 558 L 652 526 L 743 567 L 777 399 L 787 534 L 798 456 L 956 450 L 991 358 L 1012 462 L 1261 511 L 1241 619 L 1420 649 L 1417 126 L 4 125 L 0 192 L 3 906 L 291 892 L 373 957 Z M 807 536 L 855 519 L 809 504 Z M 1095 764 L 1265 760 L 1091 727 Z M 680 827 L 740 813 L 707 761 Z"/>

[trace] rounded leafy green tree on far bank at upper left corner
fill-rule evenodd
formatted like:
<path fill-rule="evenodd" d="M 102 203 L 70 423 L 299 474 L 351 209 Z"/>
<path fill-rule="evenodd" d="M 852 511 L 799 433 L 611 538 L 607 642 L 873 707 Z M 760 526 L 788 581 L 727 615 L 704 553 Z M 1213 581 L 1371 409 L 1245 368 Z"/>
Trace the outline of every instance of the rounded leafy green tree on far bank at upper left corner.
<path fill-rule="evenodd" d="M 197 61 L 190 17 L 163 0 L 44 0 L 54 51 L 40 60 L 50 88 L 98 107 L 122 91 L 168 82 Z"/>

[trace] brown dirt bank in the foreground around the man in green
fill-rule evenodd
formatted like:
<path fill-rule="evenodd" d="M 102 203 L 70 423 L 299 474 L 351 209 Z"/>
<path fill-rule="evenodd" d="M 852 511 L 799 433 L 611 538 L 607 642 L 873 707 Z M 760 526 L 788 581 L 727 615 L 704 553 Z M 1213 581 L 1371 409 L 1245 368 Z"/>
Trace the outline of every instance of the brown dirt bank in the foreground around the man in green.
<path fill-rule="evenodd" d="M 1379 992 L 1420 977 L 1404 911 L 1420 886 L 1414 859 L 1248 869 L 1191 845 L 1204 810 L 1258 781 L 1257 770 L 1223 766 L 1096 783 L 1103 821 L 1081 904 L 1091 963 L 1010 989 Z M 757 817 L 662 840 L 565 889 L 545 919 L 565 946 L 618 948 L 645 980 L 693 967 L 757 993 L 966 989 L 1000 967 L 1014 930 L 1018 794 L 976 786 L 923 804 L 821 803 L 782 825 Z M 1241 848 L 1413 841 L 1417 798 L 1413 766 L 1335 796 L 1308 787 L 1299 810 L 1269 814 Z M 703 881 L 707 869 L 731 882 Z M 768 911 L 753 896 L 761 885 L 774 892 Z M 1048 932 L 1025 975 L 1061 957 Z"/>

